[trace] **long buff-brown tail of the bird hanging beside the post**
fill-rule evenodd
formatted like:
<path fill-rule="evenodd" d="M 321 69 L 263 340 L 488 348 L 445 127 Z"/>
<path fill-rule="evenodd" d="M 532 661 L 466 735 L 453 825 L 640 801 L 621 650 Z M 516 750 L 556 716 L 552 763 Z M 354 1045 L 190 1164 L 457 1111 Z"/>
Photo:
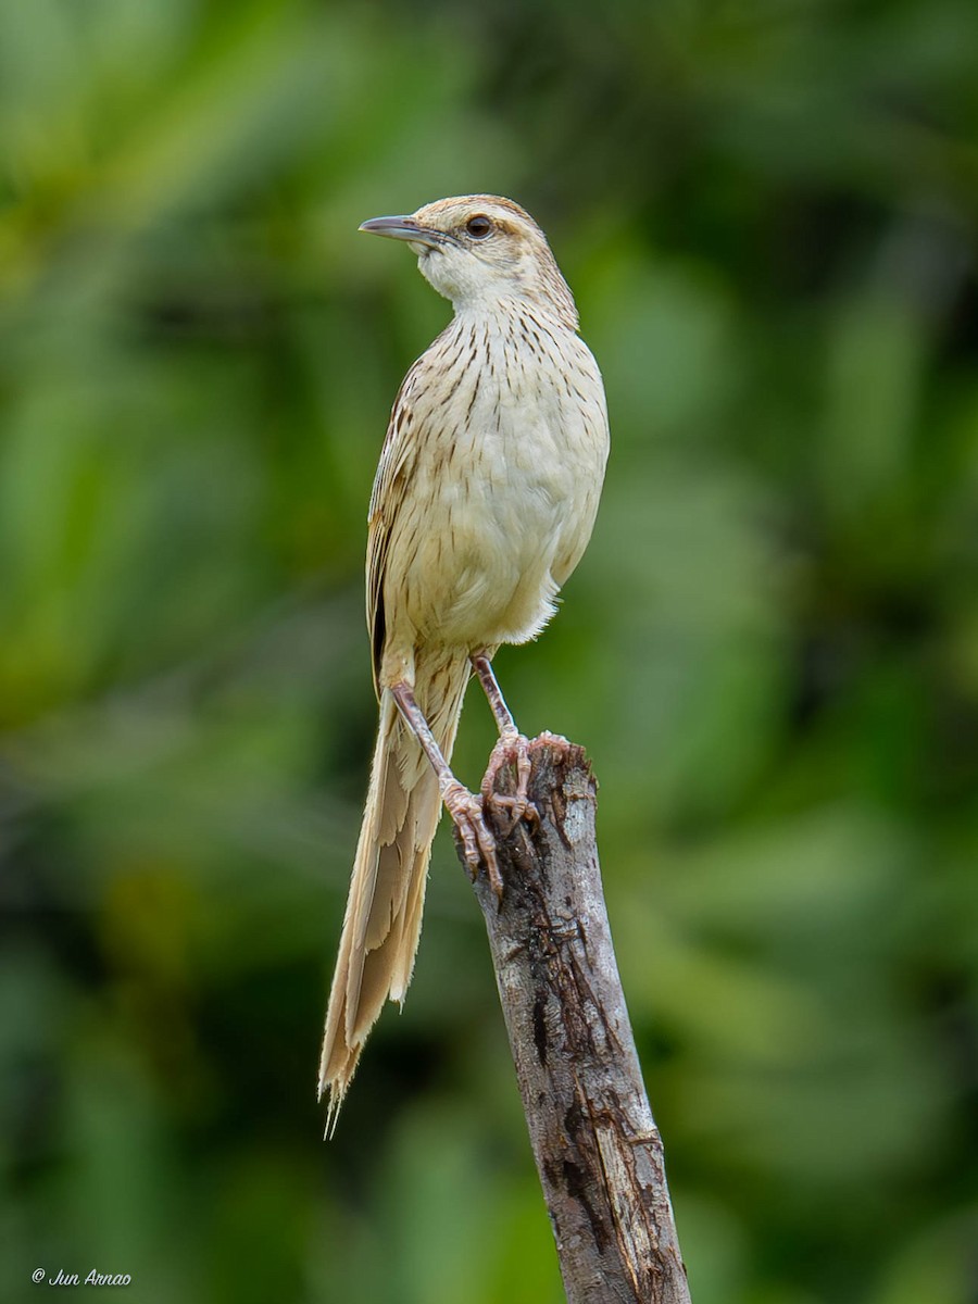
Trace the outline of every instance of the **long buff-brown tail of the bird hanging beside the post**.
<path fill-rule="evenodd" d="M 446 760 L 468 675 L 464 657 L 417 668 L 415 696 Z M 411 982 L 439 815 L 434 772 L 385 690 L 319 1060 L 327 1132 L 383 1001 L 403 1001 Z"/>

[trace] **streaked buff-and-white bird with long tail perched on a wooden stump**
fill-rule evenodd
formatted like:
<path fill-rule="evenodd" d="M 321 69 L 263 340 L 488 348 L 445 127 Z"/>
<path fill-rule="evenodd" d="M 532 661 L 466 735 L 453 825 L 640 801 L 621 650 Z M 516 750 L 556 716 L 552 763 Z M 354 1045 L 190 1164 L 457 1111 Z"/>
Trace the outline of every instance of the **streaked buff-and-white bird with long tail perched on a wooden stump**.
<path fill-rule="evenodd" d="M 501 764 L 516 768 L 511 827 L 535 812 L 528 743 L 492 661 L 554 614 L 591 537 L 609 452 L 601 373 L 524 209 L 467 194 L 360 231 L 404 241 L 454 316 L 400 385 L 368 511 L 379 722 L 319 1061 L 327 1134 L 385 1000 L 403 1004 L 411 982 L 442 805 L 472 876 L 484 867 L 503 891 L 485 819 Z M 479 795 L 450 768 L 473 672 L 499 733 Z"/>

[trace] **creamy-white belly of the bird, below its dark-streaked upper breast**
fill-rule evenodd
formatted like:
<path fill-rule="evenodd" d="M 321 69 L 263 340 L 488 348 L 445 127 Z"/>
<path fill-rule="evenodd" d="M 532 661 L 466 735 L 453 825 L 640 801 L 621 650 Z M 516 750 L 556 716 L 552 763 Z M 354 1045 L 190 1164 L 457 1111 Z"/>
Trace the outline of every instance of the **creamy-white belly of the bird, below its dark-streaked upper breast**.
<path fill-rule="evenodd" d="M 425 524 L 400 600 L 417 644 L 532 639 L 591 536 L 608 455 L 602 403 L 485 389 L 464 429 L 416 468 Z"/>

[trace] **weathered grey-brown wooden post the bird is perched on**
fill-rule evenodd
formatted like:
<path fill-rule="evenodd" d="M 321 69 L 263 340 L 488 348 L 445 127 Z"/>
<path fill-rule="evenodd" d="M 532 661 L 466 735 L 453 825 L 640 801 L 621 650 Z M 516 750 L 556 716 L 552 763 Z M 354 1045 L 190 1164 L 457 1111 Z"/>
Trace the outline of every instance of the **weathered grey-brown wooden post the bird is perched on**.
<path fill-rule="evenodd" d="M 689 1304 L 662 1144 L 608 927 L 596 784 L 580 747 L 531 743 L 523 820 L 498 836 L 505 891 L 475 884 L 569 1304 Z M 497 792 L 512 794 L 503 765 Z M 505 811 L 499 811 L 505 825 Z"/>

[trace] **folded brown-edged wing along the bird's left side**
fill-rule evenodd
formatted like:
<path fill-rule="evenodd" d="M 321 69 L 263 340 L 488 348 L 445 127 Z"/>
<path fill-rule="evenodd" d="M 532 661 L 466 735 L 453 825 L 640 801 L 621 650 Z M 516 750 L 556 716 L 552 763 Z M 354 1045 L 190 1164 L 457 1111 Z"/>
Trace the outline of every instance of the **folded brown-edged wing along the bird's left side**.
<path fill-rule="evenodd" d="M 383 612 L 383 578 L 394 523 L 404 502 L 406 488 L 415 462 L 416 443 L 412 437 L 411 393 L 421 359 L 404 377 L 394 399 L 387 436 L 381 450 L 381 462 L 370 494 L 366 515 L 366 629 L 373 651 L 373 686 L 379 698 L 381 659 L 387 623 Z"/>

